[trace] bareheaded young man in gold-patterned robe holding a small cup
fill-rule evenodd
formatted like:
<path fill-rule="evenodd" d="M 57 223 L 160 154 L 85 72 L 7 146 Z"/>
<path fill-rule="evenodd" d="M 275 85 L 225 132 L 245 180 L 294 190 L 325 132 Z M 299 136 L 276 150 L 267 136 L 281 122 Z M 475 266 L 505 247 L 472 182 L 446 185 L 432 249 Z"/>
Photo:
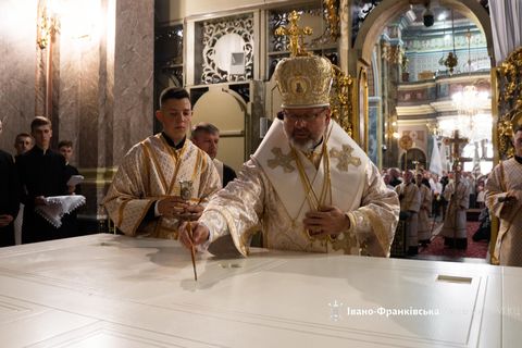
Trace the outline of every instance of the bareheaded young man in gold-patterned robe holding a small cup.
<path fill-rule="evenodd" d="M 191 115 L 188 92 L 165 89 L 156 112 L 163 132 L 135 145 L 120 164 L 103 203 L 124 234 L 177 239 L 182 220 L 197 220 L 221 188 L 210 157 L 186 137 Z M 182 181 L 191 183 L 189 199 L 181 198 Z"/>

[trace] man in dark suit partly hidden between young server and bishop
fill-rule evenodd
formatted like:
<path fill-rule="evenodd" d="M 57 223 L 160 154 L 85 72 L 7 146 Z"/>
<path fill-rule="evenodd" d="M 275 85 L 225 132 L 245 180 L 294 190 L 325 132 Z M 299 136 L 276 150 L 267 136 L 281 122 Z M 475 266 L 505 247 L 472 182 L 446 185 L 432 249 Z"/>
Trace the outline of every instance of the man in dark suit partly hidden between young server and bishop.
<path fill-rule="evenodd" d="M 236 172 L 217 160 L 219 142 L 220 142 L 220 129 L 211 123 L 199 123 L 192 128 L 191 138 L 192 142 L 207 152 L 214 162 L 215 169 L 220 174 L 223 187 L 236 178 Z"/>

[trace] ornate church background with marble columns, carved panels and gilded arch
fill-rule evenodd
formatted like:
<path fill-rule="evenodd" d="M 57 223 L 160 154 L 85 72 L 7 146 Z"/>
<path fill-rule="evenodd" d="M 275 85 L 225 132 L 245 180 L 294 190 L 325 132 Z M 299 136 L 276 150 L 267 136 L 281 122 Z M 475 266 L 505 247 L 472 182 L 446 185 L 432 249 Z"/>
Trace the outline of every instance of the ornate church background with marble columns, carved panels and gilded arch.
<path fill-rule="evenodd" d="M 85 176 L 82 228 L 107 231 L 101 200 L 121 159 L 161 130 L 159 95 L 179 86 L 192 123 L 220 128 L 219 158 L 238 171 L 279 110 L 271 77 L 289 51 L 275 29 L 297 10 L 312 29 L 303 45 L 349 78 L 345 128 L 380 169 L 428 170 L 436 145 L 444 171 L 457 156 L 477 181 L 502 158 L 487 1 L 236 2 L 4 2 L 0 147 L 13 151 L 48 115 L 53 147 L 71 139 Z M 468 139 L 458 154 L 455 136 Z"/>

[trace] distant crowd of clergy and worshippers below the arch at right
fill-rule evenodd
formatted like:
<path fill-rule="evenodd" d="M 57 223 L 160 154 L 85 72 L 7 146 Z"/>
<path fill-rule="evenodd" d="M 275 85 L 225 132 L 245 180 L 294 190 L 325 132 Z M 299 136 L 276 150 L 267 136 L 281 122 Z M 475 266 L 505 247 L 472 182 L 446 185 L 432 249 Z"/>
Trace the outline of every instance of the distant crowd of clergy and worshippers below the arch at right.
<path fill-rule="evenodd" d="M 465 249 L 467 211 L 485 207 L 485 182 L 487 175 L 473 175 L 460 169 L 437 174 L 420 169 L 401 172 L 397 167 L 385 169 L 383 179 L 399 195 L 400 220 L 405 221 L 406 243 L 409 254 L 417 254 L 419 247 L 426 247 L 433 238 L 434 227 L 443 223 L 440 235 L 450 248 Z M 487 239 L 482 229 L 475 240 Z"/>

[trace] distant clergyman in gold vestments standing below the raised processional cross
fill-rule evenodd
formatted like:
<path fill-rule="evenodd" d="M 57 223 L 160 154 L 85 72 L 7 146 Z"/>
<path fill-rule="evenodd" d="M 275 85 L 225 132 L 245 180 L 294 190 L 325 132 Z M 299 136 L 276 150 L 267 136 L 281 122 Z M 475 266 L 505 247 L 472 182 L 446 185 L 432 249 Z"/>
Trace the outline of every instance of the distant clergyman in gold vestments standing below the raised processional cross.
<path fill-rule="evenodd" d="M 453 181 L 446 185 L 443 196 L 448 201 L 443 231 L 444 244 L 450 248 L 468 248 L 465 231 L 467 211 L 470 206 L 470 186 L 462 179 L 462 173 L 456 171 Z"/>

